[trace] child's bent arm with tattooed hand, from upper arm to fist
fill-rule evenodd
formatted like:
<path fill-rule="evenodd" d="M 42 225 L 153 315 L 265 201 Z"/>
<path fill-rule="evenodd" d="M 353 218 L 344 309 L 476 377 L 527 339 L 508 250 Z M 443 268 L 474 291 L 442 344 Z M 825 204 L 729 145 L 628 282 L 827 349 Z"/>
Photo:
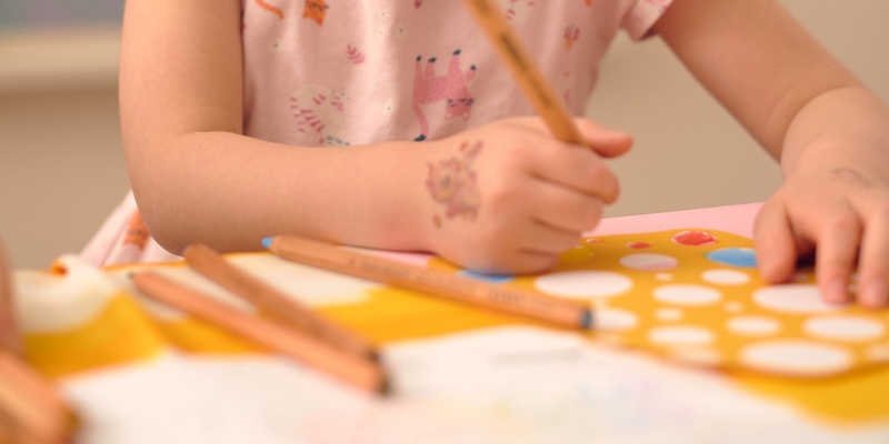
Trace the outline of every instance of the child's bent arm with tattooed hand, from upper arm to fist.
<path fill-rule="evenodd" d="M 171 252 L 196 242 L 257 250 L 264 236 L 294 233 L 532 271 L 617 198 L 600 154 L 631 141 L 586 120 L 580 130 L 599 154 L 556 141 L 530 118 L 422 143 L 310 148 L 242 135 L 239 3 L 127 2 L 127 163 L 143 220 Z"/>

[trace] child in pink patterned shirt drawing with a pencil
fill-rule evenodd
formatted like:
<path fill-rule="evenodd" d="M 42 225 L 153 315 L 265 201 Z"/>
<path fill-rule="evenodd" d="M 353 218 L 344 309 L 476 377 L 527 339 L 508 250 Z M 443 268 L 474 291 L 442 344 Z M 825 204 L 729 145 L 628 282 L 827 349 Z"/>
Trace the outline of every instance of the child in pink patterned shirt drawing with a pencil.
<path fill-rule="evenodd" d="M 621 28 L 660 36 L 781 162 L 762 276 L 817 245 L 828 301 L 858 264 L 860 303 L 887 304 L 889 108 L 777 1 L 500 3 L 577 114 Z M 122 44 L 134 200 L 86 252 L 106 263 L 298 233 L 541 271 L 617 199 L 603 158 L 632 143 L 586 119 L 585 147 L 550 137 L 456 0 L 129 0 Z"/>

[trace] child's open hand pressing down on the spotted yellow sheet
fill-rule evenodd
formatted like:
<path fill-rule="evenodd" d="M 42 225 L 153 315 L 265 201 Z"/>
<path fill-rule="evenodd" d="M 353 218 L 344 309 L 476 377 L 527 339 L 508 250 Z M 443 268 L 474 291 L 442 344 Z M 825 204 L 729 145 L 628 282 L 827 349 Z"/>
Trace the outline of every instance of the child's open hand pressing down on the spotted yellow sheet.
<path fill-rule="evenodd" d="M 889 183 L 849 169 L 791 176 L 762 206 L 756 224 L 762 278 L 786 281 L 796 259 L 816 253 L 825 300 L 852 299 L 869 307 L 889 301 Z M 817 249 L 816 249 L 817 246 Z"/>

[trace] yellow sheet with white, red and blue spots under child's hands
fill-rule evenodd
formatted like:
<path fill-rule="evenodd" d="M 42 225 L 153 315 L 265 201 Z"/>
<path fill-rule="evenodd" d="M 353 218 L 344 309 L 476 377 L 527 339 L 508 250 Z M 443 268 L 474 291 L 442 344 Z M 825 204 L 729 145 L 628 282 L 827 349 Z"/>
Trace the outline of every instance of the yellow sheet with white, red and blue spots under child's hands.
<path fill-rule="evenodd" d="M 706 230 L 587 238 L 505 285 L 590 301 L 593 337 L 695 364 L 811 379 L 889 362 L 889 310 L 825 303 L 811 270 L 766 285 L 752 246 Z"/>

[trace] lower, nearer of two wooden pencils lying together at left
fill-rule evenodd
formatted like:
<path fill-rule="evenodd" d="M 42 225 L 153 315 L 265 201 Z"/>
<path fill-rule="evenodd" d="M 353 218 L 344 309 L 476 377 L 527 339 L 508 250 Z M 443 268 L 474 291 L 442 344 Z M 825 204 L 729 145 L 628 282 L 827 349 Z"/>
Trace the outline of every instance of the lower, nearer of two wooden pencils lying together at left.
<path fill-rule="evenodd" d="M 363 390 L 384 393 L 388 382 L 379 363 L 342 353 L 307 334 L 251 316 L 157 272 L 131 275 L 146 295 L 226 329 L 336 379 Z"/>

